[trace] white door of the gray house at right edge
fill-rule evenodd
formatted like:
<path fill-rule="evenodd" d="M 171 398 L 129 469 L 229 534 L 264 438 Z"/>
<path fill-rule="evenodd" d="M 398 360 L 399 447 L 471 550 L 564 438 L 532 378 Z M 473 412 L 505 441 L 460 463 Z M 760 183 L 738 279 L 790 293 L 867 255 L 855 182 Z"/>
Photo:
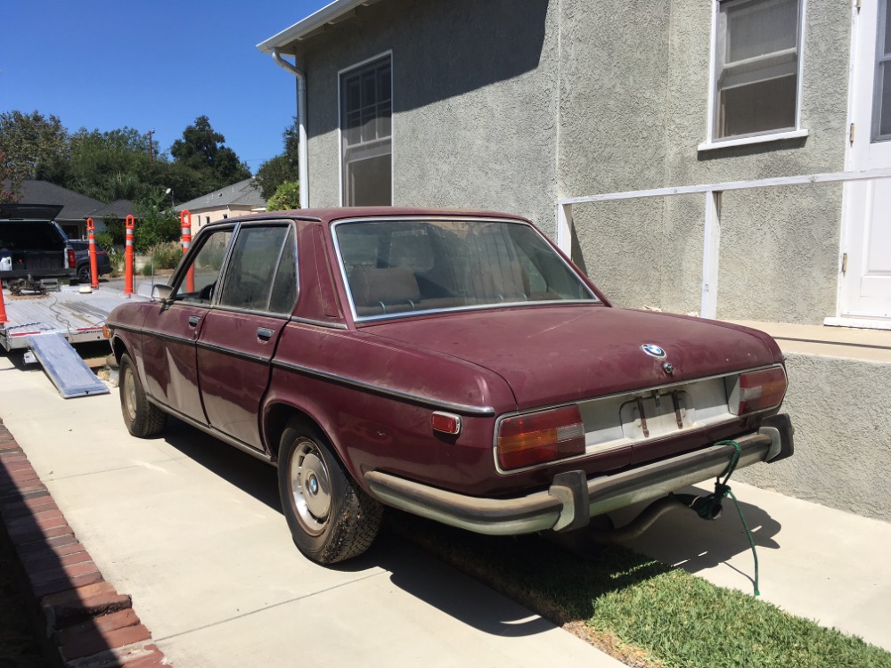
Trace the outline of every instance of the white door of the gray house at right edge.
<path fill-rule="evenodd" d="M 891 167 L 891 12 L 862 0 L 854 17 L 848 170 Z M 845 239 L 839 311 L 891 319 L 891 179 L 845 185 Z"/>

